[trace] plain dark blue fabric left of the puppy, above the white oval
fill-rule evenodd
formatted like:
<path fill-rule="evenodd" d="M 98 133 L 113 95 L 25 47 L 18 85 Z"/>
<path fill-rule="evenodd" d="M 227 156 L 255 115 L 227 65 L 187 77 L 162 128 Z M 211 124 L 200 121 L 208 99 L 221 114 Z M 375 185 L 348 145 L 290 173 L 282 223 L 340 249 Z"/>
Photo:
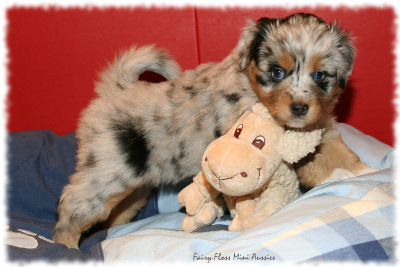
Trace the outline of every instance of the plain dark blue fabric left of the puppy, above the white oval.
<path fill-rule="evenodd" d="M 16 132 L 8 135 L 7 144 L 8 214 L 55 220 L 55 201 L 76 163 L 74 134 Z"/>

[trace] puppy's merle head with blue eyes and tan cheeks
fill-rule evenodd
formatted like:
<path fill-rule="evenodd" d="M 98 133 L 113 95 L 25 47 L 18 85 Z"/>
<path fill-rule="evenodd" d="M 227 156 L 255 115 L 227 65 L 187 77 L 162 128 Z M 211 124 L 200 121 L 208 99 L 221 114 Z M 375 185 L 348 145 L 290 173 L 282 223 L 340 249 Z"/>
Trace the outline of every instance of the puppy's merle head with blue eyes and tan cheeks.
<path fill-rule="evenodd" d="M 239 70 L 277 122 L 325 127 L 351 74 L 351 41 L 335 22 L 310 14 L 262 18 L 243 29 Z"/>

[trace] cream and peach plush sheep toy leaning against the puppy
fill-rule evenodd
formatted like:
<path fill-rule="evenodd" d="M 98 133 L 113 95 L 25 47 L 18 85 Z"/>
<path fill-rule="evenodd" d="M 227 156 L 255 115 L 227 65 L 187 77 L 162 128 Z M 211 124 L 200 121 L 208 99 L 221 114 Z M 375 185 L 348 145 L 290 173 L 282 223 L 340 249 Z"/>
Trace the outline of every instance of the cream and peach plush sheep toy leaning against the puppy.
<path fill-rule="evenodd" d="M 178 194 L 186 207 L 181 229 L 210 225 L 224 208 L 228 230 L 245 230 L 299 196 L 292 163 L 315 151 L 323 130 L 285 131 L 262 104 L 252 106 L 224 135 L 211 142 L 202 171 Z"/>

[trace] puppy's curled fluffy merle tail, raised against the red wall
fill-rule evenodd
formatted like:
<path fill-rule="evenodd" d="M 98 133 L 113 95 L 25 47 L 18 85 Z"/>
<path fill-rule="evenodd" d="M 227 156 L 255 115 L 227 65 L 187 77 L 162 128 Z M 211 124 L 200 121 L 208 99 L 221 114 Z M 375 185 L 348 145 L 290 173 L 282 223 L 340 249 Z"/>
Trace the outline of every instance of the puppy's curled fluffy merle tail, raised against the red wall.
<path fill-rule="evenodd" d="M 154 45 L 132 47 L 115 58 L 114 63 L 100 74 L 95 91 L 100 96 L 110 96 L 124 90 L 138 80 L 145 71 L 155 72 L 167 80 L 181 75 L 180 67 L 164 50 Z"/>

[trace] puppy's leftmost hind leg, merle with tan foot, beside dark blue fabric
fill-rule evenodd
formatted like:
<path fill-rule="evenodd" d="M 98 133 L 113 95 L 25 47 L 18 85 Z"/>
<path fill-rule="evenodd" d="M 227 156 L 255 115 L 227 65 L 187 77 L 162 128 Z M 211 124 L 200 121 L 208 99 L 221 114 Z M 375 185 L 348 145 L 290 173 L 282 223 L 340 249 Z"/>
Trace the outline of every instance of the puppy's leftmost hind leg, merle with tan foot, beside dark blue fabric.
<path fill-rule="evenodd" d="M 68 248 L 78 248 L 80 234 L 94 223 L 106 220 L 110 211 L 133 190 L 121 175 L 102 185 L 88 177 L 84 172 L 73 174 L 58 201 L 52 240 Z"/>

